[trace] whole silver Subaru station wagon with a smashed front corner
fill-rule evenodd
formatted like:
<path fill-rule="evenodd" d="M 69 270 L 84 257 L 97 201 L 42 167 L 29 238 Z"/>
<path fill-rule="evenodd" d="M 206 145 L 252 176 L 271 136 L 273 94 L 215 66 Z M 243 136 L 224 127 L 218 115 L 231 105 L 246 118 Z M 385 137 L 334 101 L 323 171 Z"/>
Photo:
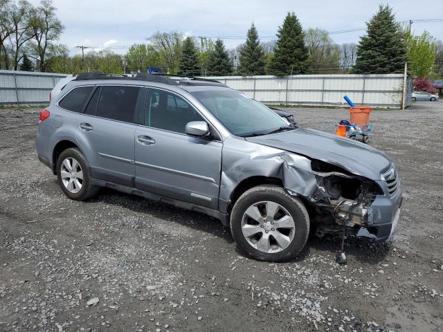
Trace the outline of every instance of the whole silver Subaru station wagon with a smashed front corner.
<path fill-rule="evenodd" d="M 40 114 L 36 146 L 70 199 L 111 187 L 203 212 L 256 259 L 295 257 L 314 228 L 385 241 L 399 219 L 388 156 L 213 80 L 80 74 Z"/>

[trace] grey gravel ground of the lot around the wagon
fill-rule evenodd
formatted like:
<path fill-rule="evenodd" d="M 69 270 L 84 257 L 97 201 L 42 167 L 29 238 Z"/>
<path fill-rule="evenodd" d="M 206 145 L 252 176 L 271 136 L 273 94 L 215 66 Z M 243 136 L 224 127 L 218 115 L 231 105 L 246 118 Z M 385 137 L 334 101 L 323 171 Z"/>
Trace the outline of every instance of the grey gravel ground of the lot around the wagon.
<path fill-rule="evenodd" d="M 291 109 L 332 131 L 341 109 Z M 390 244 L 311 237 L 284 264 L 238 252 L 203 214 L 112 190 L 62 194 L 39 109 L 0 109 L 0 331 L 442 331 L 443 102 L 374 111 L 370 145 L 404 183 Z"/>

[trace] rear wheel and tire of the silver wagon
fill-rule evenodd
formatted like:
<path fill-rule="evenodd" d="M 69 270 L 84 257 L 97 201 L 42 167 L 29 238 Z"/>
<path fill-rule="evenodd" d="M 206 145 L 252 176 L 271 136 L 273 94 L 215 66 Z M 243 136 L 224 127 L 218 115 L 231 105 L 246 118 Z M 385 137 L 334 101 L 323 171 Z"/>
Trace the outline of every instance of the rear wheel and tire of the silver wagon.
<path fill-rule="evenodd" d="M 71 167 L 72 173 L 69 172 L 69 167 Z M 82 176 L 80 176 L 79 169 Z M 77 148 L 66 149 L 60 154 L 57 159 L 57 180 L 64 194 L 75 201 L 90 199 L 99 190 L 99 187 L 89 185 L 87 159 Z"/>

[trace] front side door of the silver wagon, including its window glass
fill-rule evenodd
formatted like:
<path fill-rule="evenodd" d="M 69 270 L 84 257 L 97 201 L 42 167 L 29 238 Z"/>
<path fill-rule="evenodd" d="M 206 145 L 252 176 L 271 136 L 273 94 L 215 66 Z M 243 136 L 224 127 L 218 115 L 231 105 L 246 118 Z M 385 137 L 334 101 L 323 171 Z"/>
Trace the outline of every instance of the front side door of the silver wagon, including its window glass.
<path fill-rule="evenodd" d="M 172 199 L 218 208 L 221 140 L 186 135 L 204 117 L 181 98 L 150 89 L 136 129 L 136 187 Z"/>

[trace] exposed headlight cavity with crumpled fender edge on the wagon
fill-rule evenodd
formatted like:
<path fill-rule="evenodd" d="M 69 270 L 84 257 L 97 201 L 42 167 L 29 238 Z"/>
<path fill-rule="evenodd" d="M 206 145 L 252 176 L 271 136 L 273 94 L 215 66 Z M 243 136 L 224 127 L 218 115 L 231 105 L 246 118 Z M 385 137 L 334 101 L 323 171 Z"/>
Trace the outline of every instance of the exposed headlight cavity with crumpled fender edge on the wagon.
<path fill-rule="evenodd" d="M 368 227 L 371 205 L 377 195 L 383 195 L 375 181 L 320 160 L 309 160 L 308 170 L 306 165 L 300 167 L 300 159 L 305 157 L 282 154 L 280 158 L 284 160 L 284 187 L 293 195 L 303 196 L 314 210 L 318 234 L 344 229 L 348 234 L 377 239 Z"/>

